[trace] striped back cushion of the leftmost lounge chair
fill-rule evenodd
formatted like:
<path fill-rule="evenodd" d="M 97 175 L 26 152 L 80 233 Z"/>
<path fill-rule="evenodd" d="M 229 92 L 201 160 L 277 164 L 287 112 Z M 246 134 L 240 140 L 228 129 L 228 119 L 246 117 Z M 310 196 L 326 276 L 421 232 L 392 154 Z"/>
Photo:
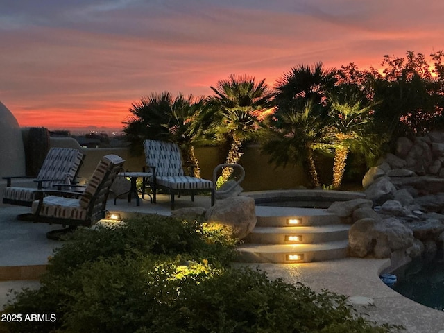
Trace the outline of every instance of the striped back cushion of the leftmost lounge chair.
<path fill-rule="evenodd" d="M 43 182 L 42 187 L 52 187 L 54 183 L 66 182 L 70 184 L 82 162 L 83 153 L 73 148 L 51 148 L 46 155 L 42 168 L 37 175 L 37 180 L 56 181 Z"/>

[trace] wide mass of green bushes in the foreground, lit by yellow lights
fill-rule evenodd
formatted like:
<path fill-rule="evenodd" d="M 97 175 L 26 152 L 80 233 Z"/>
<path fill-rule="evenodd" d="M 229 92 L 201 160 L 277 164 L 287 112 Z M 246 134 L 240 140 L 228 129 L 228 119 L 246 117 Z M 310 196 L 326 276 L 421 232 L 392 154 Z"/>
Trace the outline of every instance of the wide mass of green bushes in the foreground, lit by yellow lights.
<path fill-rule="evenodd" d="M 0 332 L 391 332 L 345 297 L 232 269 L 226 230 L 137 216 L 123 228 L 80 230 L 50 260 L 38 290 L 7 313 L 55 323 L 3 323 Z M 6 326 L 5 326 L 6 325 Z"/>

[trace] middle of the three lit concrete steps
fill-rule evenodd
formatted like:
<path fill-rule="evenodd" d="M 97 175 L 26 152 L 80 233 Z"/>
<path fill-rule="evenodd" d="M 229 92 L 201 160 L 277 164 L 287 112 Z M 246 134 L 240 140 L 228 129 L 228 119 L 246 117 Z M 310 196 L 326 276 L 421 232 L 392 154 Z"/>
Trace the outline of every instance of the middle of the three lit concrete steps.
<path fill-rule="evenodd" d="M 250 244 L 314 244 L 348 239 L 350 225 L 318 227 L 256 227 L 244 239 Z"/>

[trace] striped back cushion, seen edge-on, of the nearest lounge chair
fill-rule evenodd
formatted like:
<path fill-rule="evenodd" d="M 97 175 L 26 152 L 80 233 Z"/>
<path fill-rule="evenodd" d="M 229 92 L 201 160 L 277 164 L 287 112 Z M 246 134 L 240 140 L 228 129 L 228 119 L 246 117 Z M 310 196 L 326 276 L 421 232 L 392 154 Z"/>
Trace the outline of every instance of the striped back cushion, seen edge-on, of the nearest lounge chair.
<path fill-rule="evenodd" d="M 92 174 L 92 178 L 89 180 L 82 197 L 80 198 L 80 206 L 87 208 L 93 196 L 97 196 L 96 204 L 101 203 L 101 199 L 105 198 L 105 196 L 108 194 L 114 178 L 116 178 L 117 173 L 119 173 L 121 170 L 123 162 L 125 162 L 125 160 L 117 155 L 105 155 L 102 157 L 99 164 L 97 164 L 96 170 Z M 108 171 L 110 171 L 108 174 L 108 179 L 105 180 L 105 183 L 100 189 L 100 193 L 96 193 L 99 190 L 99 186 L 102 184 Z"/>

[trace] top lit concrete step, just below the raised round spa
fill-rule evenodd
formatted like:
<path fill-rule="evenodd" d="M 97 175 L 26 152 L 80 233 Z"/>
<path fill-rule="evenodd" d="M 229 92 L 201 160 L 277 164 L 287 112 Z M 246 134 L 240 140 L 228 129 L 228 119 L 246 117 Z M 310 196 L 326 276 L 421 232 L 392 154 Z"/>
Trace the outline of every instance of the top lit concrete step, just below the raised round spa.
<path fill-rule="evenodd" d="M 256 206 L 257 227 L 313 226 L 339 224 L 341 219 L 314 208 Z"/>

